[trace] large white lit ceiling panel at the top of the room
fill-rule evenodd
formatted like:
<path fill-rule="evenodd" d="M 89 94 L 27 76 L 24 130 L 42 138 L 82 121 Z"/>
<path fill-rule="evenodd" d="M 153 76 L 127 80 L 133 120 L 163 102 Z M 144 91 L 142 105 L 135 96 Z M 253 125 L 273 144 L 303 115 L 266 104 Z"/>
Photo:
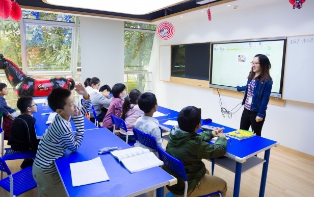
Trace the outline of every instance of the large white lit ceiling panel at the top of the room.
<path fill-rule="evenodd" d="M 72 8 L 82 8 L 89 10 L 100 10 L 107 12 L 118 12 L 124 14 L 149 14 L 154 11 L 162 10 L 186 1 L 182 0 L 42 0 L 43 2 L 55 6 Z"/>

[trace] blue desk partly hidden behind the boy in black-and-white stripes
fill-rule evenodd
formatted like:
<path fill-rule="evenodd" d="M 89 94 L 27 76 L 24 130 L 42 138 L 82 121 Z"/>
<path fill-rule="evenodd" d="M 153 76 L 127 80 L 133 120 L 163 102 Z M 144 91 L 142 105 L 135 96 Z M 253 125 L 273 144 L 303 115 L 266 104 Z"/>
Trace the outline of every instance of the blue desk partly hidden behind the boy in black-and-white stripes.
<path fill-rule="evenodd" d="M 42 138 L 44 132 L 49 126 L 49 125 L 46 125 L 46 121 L 48 120 L 49 115 L 41 115 L 42 113 L 48 113 L 48 112 L 54 112 L 54 111 L 49 108 L 45 110 L 38 110 L 36 113 L 33 113 L 33 117 L 36 119 L 35 131 L 36 131 L 37 139 Z M 84 125 L 85 130 L 98 128 L 93 124 L 93 122 L 91 122 L 85 116 L 84 116 L 84 124 L 85 124 Z M 76 131 L 73 121 L 71 121 L 71 126 L 72 126 L 73 131 Z"/>

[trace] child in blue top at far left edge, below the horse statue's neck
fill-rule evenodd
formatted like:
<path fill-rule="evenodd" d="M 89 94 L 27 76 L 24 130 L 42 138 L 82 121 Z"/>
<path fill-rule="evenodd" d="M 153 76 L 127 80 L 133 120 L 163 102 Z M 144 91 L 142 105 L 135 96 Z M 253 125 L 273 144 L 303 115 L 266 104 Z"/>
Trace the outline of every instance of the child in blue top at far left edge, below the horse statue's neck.
<path fill-rule="evenodd" d="M 0 111 L 3 112 L 2 129 L 4 131 L 5 140 L 9 140 L 10 138 L 10 128 L 13 119 L 20 115 L 19 113 L 16 113 L 15 109 L 8 106 L 6 99 L 4 98 L 4 96 L 8 95 L 8 93 L 7 84 L 0 83 Z"/>

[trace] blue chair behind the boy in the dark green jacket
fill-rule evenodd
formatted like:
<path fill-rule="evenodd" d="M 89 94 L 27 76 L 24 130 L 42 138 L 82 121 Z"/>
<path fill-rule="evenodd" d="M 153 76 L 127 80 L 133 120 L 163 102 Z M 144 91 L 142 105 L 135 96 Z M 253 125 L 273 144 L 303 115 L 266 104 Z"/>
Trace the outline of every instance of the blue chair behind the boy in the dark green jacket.
<path fill-rule="evenodd" d="M 185 183 L 184 197 L 186 197 L 188 194 L 188 179 L 187 179 L 186 170 L 184 168 L 184 165 L 182 164 L 182 162 L 180 160 L 169 155 L 160 146 L 157 147 L 157 150 L 158 150 L 159 158 L 164 162 L 164 165 L 168 169 L 173 171 L 175 174 L 177 174 L 178 176 L 180 176 L 181 178 L 184 179 L 184 183 Z M 216 191 L 213 193 L 208 193 L 206 195 L 202 195 L 200 197 L 211 196 L 211 195 L 215 195 L 215 194 L 219 194 L 219 196 L 222 196 L 221 191 Z M 171 192 L 168 192 L 166 196 L 170 197 L 170 196 L 175 196 L 175 195 L 173 195 Z"/>

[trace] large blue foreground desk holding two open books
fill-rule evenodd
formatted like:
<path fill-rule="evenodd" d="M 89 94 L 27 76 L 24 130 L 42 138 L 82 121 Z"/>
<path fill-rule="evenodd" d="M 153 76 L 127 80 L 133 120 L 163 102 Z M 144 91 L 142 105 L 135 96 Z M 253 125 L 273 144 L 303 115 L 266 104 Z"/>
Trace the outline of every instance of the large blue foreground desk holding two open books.
<path fill-rule="evenodd" d="M 154 189 L 158 190 L 158 196 L 163 196 L 163 186 L 176 184 L 177 180 L 160 167 L 129 173 L 111 154 L 97 154 L 99 149 L 106 146 L 130 148 L 108 129 L 93 129 L 85 131 L 79 151 L 76 153 L 67 151 L 63 157 L 56 160 L 57 169 L 68 196 L 135 196 Z M 69 163 L 87 161 L 98 156 L 101 158 L 110 180 L 72 187 Z"/>

